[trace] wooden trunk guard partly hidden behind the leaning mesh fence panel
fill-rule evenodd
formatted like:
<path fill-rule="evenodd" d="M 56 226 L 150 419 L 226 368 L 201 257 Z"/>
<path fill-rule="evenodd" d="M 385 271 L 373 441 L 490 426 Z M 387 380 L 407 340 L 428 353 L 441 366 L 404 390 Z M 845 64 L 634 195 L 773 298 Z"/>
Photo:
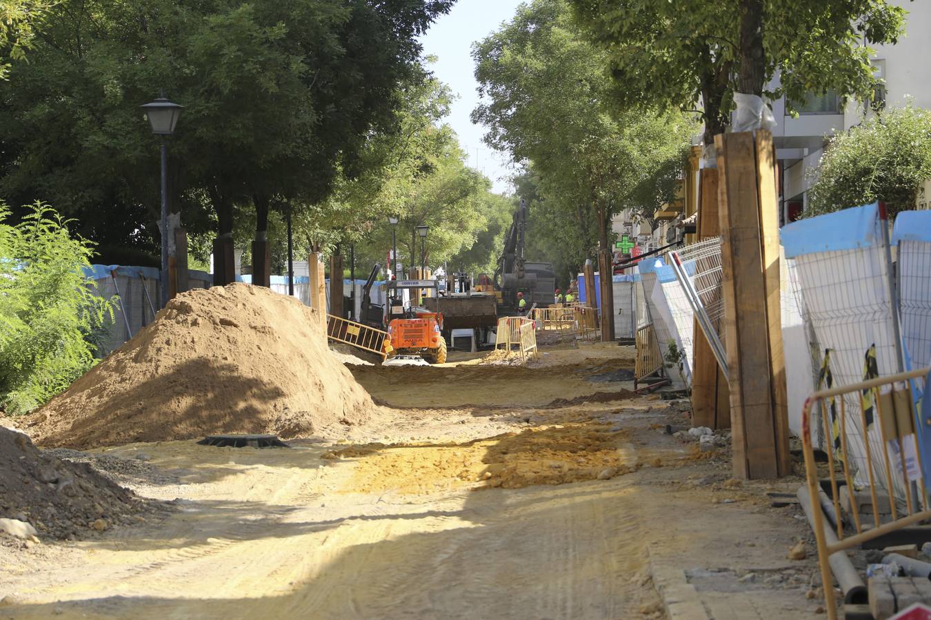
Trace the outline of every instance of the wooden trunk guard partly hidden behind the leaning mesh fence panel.
<path fill-rule="evenodd" d="M 698 225 L 695 236 L 698 241 L 704 241 L 720 234 L 718 170 L 704 168 L 699 185 Z M 718 367 L 708 338 L 699 328 L 697 321 L 692 368 L 692 425 L 710 429 L 730 429 L 731 406 L 727 379 Z"/>

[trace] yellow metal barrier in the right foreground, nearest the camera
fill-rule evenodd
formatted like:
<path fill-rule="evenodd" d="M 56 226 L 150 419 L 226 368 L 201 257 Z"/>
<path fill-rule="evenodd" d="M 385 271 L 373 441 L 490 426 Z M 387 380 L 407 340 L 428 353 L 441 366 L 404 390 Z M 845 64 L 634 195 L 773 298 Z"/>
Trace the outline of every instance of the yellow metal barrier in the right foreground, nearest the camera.
<path fill-rule="evenodd" d="M 923 432 L 922 424 L 916 416 L 913 393 L 916 389 L 927 388 L 924 379 L 931 373 L 931 368 L 924 368 L 908 373 L 884 376 L 839 388 L 816 391 L 805 401 L 802 411 L 802 440 L 805 459 L 805 476 L 811 505 L 815 507 L 814 529 L 817 541 L 818 564 L 821 569 L 821 581 L 824 586 L 825 607 L 829 617 L 837 617 L 834 588 L 831 587 L 830 556 L 838 551 L 856 547 L 873 538 L 894 532 L 919 521 L 931 519 L 928 496 L 924 487 L 924 462 L 918 440 Z M 919 379 L 921 386 L 915 384 Z M 847 419 L 845 396 L 856 395 L 859 412 L 854 419 L 858 424 L 852 425 Z M 924 399 L 923 399 L 924 400 Z M 825 427 L 825 452 L 830 468 L 830 485 L 833 495 L 833 511 L 836 521 L 836 538 L 830 528 L 826 528 L 825 517 L 820 499 L 820 486 L 817 479 L 815 450 L 812 444 L 811 425 L 812 410 L 818 405 L 821 423 Z M 839 406 L 838 406 L 839 405 Z M 863 446 L 862 465 L 860 459 L 853 459 L 848 445 L 847 431 L 853 428 L 860 431 L 858 438 Z M 877 446 L 881 446 L 877 449 Z M 835 464 L 843 469 L 843 483 L 847 486 L 849 497 L 849 514 L 856 534 L 845 536 L 840 484 L 837 481 Z M 931 465 L 931 464 L 929 464 Z M 865 466 L 865 467 L 863 467 Z M 869 480 L 869 498 L 872 522 L 869 517 L 861 518 L 857 497 L 855 478 L 865 477 Z M 882 491 L 887 492 L 887 497 Z M 887 499 L 883 503 L 883 499 Z M 831 500 L 828 500 L 829 503 Z M 886 510 L 887 508 L 887 510 Z M 881 512 L 888 512 L 886 522 Z M 848 526 L 850 521 L 847 522 Z M 827 530 L 827 531 L 826 531 Z M 830 536 L 830 541 L 829 541 Z"/>

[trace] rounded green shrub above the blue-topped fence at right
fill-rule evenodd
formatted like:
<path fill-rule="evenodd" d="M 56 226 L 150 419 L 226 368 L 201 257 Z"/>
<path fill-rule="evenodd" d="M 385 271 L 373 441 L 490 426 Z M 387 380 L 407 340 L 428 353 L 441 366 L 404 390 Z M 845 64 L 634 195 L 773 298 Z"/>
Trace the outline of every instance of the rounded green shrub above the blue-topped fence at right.
<path fill-rule="evenodd" d="M 889 216 L 915 208 L 931 178 L 931 112 L 887 110 L 830 139 L 804 217 L 884 201 Z"/>

